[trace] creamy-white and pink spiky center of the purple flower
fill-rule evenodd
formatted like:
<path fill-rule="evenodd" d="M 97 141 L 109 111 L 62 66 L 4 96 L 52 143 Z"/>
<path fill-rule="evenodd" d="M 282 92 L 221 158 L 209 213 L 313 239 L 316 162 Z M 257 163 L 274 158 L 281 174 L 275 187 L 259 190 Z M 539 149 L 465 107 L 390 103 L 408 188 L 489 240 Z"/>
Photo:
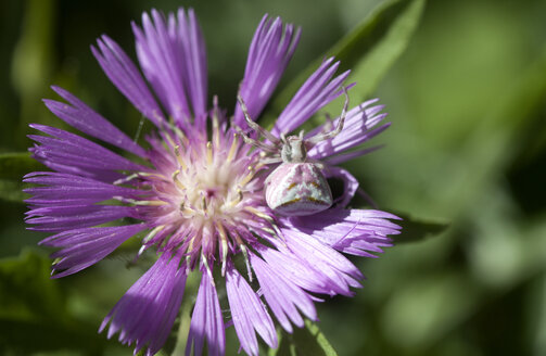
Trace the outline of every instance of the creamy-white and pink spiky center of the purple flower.
<path fill-rule="evenodd" d="M 152 196 L 145 198 L 151 206 L 143 206 L 141 218 L 156 228 L 144 238 L 144 249 L 175 245 L 185 251 L 188 268 L 198 257 L 225 267 L 230 254 L 245 253 L 253 229 L 272 221 L 259 155 L 231 129 L 214 128 L 211 140 L 177 130 L 161 136 L 149 139 L 155 170 L 145 176 Z"/>

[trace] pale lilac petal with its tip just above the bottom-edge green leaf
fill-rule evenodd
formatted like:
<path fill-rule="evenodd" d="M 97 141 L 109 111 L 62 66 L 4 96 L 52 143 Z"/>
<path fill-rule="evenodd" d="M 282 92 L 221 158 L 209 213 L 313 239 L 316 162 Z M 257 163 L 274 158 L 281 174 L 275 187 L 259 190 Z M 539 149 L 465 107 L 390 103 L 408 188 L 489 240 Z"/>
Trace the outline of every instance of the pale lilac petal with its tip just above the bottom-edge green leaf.
<path fill-rule="evenodd" d="M 271 268 L 262 258 L 254 254 L 250 255 L 252 268 L 256 274 L 261 291 L 271 312 L 279 320 L 280 325 L 288 332 L 292 332 L 292 325 L 289 319 L 297 327 L 302 328 L 304 321 L 296 307 L 302 310 L 307 318 L 317 319 L 317 313 L 312 297 L 300 287 L 284 279 L 283 276 Z"/>

